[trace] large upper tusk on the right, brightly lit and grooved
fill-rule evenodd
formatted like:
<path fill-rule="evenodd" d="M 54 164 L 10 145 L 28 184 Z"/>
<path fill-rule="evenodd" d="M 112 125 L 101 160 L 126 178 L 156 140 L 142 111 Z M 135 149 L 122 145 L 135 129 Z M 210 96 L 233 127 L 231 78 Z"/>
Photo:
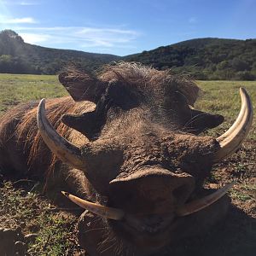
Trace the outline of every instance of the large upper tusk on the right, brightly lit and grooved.
<path fill-rule="evenodd" d="M 241 143 L 251 129 L 253 123 L 253 103 L 244 88 L 240 88 L 240 95 L 241 110 L 235 123 L 228 131 L 217 138 L 220 149 L 213 156 L 213 162 L 215 163 L 223 160 L 240 148 Z"/>

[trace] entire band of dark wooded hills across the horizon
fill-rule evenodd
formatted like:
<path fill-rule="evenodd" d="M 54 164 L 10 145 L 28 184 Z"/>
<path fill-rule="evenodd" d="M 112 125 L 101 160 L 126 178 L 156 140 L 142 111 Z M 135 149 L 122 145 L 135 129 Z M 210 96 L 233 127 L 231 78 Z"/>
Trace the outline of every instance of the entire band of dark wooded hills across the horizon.
<path fill-rule="evenodd" d="M 256 79 L 256 39 L 200 38 L 119 57 L 26 44 L 11 30 L 0 32 L 0 73 L 55 74 L 74 63 L 94 71 L 111 61 L 136 61 L 159 70 L 189 72 L 195 79 Z"/>

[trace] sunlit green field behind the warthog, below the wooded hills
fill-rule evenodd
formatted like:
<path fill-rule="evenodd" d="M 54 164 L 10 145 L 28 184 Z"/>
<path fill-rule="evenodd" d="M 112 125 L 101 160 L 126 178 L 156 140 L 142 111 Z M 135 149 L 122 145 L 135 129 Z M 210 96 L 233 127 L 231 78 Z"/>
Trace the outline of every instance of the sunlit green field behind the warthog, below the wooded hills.
<path fill-rule="evenodd" d="M 223 132 L 229 127 L 240 110 L 239 88 L 245 87 L 254 102 L 256 101 L 256 82 L 253 81 L 197 81 L 201 96 L 196 108 L 207 112 L 220 113 L 225 122 L 211 133 Z M 47 97 L 67 95 L 67 91 L 54 75 L 15 75 L 0 74 L 0 115 L 20 102 Z M 254 104 L 254 110 L 256 109 Z M 255 111 L 254 111 L 255 112 Z M 255 121 L 251 138 L 256 139 Z"/>

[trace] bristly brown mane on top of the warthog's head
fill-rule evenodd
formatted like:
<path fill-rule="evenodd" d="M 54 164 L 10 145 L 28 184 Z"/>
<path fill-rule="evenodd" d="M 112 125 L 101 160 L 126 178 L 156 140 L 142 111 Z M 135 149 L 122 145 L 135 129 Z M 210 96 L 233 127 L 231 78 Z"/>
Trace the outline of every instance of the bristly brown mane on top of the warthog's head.
<path fill-rule="evenodd" d="M 98 73 L 98 77 L 102 81 L 117 79 L 126 84 L 130 90 L 136 88 L 144 94 L 147 93 L 148 97 L 163 90 L 169 92 L 168 96 L 172 97 L 170 94 L 178 90 L 191 106 L 194 106 L 200 92 L 189 73 L 173 74 L 171 69 L 159 71 L 137 63 L 119 62 L 116 65 L 107 65 Z"/>

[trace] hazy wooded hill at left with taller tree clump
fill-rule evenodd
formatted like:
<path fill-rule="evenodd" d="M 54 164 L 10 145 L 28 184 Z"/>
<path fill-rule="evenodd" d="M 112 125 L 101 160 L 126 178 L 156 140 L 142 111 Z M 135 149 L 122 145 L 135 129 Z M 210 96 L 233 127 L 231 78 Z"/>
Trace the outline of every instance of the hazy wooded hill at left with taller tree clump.
<path fill-rule="evenodd" d="M 57 73 L 62 67 L 76 63 L 87 70 L 95 70 L 116 55 L 87 53 L 70 49 L 51 49 L 26 44 L 14 31 L 0 32 L 0 73 Z"/>

